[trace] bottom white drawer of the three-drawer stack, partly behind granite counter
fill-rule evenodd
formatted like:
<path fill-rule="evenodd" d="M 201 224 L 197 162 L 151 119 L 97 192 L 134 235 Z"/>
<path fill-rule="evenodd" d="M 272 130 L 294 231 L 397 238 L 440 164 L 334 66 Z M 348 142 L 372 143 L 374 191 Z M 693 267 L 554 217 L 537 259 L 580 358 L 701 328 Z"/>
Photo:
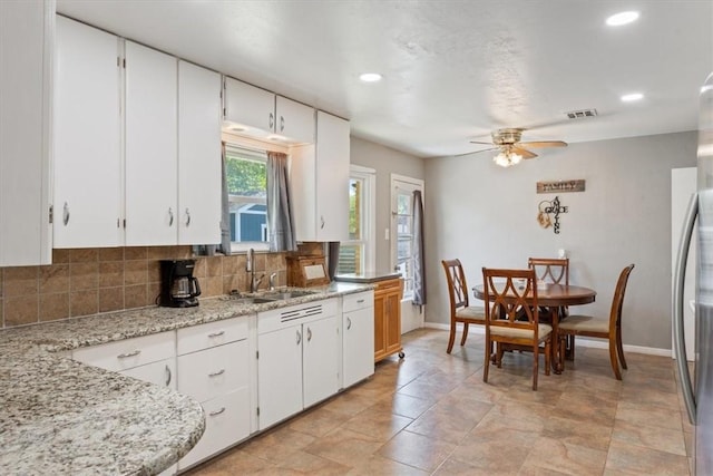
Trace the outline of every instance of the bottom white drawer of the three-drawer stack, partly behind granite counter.
<path fill-rule="evenodd" d="M 232 391 L 203 404 L 205 433 L 198 444 L 178 462 L 185 469 L 250 436 L 250 394 L 247 388 Z"/>

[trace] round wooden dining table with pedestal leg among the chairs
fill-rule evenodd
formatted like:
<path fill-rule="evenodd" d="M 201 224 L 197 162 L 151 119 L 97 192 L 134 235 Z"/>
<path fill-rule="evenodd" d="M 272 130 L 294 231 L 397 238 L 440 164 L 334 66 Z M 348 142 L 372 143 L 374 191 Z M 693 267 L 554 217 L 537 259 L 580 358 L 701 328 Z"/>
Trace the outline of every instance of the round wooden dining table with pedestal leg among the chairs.
<path fill-rule="evenodd" d="M 485 300 L 485 286 L 482 284 L 472 288 L 476 299 Z M 553 324 L 553 370 L 561 373 L 564 369 L 564 356 L 559 356 L 559 319 L 560 311 L 569 305 L 589 304 L 595 301 L 597 292 L 593 289 L 572 284 L 548 284 L 547 288 L 537 289 L 537 305 L 549 309 Z M 564 314 L 563 314 L 564 315 Z"/>

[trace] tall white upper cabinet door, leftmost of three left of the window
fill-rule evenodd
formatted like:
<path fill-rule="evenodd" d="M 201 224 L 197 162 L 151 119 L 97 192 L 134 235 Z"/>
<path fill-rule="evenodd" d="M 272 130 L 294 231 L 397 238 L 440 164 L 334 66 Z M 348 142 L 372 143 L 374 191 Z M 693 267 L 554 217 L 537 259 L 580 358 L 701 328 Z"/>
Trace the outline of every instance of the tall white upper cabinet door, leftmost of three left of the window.
<path fill-rule="evenodd" d="M 57 17 L 55 247 L 123 244 L 118 41 Z"/>

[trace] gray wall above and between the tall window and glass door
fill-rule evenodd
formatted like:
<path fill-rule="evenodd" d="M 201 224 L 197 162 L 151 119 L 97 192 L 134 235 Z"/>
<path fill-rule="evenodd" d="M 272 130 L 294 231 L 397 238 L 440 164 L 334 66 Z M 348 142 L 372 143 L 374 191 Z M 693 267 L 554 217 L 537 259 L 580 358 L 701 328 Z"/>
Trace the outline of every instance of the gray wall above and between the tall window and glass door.
<path fill-rule="evenodd" d="M 377 270 L 390 269 L 389 240 L 384 231 L 391 220 L 391 174 L 424 179 L 424 161 L 368 140 L 351 138 L 351 163 L 377 171 Z M 424 186 L 428 195 L 428 183 Z"/>

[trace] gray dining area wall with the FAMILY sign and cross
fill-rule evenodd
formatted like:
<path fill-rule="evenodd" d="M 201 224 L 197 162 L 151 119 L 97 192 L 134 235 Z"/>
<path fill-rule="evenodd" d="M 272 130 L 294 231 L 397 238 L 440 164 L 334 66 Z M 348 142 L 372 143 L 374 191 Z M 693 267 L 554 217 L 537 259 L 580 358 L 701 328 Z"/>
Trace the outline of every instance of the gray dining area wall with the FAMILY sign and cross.
<path fill-rule="evenodd" d="M 608 315 L 621 270 L 635 263 L 624 343 L 671 348 L 671 169 L 695 166 L 696 133 L 572 144 L 501 168 L 489 154 L 426 161 L 426 321 L 448 322 L 441 259 L 459 258 L 468 285 L 482 266 L 525 268 L 566 249 L 570 282 L 597 290 L 577 312 Z M 352 152 L 353 153 L 353 152 Z M 537 194 L 538 181 L 584 178 L 584 193 Z M 541 229 L 538 203 L 559 196 L 560 233 Z"/>

